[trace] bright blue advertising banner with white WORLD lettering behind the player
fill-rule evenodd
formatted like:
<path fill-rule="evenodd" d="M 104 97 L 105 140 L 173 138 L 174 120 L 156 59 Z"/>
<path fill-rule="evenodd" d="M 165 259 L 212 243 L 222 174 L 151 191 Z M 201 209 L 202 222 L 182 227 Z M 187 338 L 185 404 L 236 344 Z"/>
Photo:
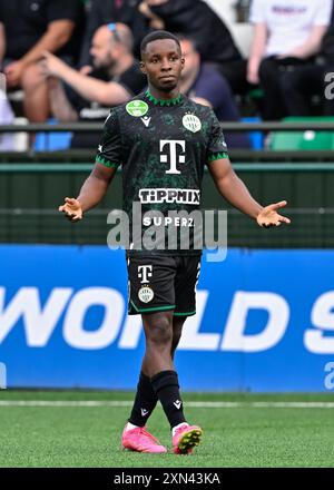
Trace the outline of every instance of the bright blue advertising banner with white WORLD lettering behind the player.
<path fill-rule="evenodd" d="M 2 245 L 0 270 L 9 388 L 136 386 L 144 334 L 122 251 Z M 334 390 L 334 251 L 204 254 L 176 367 L 187 391 Z"/>

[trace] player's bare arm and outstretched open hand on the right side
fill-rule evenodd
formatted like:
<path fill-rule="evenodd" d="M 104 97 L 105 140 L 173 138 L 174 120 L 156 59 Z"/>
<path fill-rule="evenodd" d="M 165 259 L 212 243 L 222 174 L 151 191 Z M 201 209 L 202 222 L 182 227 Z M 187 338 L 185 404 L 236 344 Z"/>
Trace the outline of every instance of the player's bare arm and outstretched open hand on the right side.
<path fill-rule="evenodd" d="M 234 207 L 257 220 L 262 227 L 279 226 L 291 220 L 277 213 L 286 206 L 286 200 L 263 207 L 249 194 L 243 180 L 235 174 L 228 158 L 220 158 L 209 164 L 209 171 L 218 192 Z"/>

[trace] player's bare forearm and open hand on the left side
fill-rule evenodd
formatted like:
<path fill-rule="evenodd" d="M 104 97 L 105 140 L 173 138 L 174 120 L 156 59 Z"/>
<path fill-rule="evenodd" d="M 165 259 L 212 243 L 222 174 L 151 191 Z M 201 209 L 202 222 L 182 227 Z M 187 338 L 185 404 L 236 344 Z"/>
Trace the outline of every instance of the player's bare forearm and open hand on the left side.
<path fill-rule="evenodd" d="M 109 168 L 96 163 L 91 174 L 84 183 L 79 196 L 75 199 L 66 197 L 59 210 L 71 222 L 82 219 L 84 213 L 97 206 L 107 193 L 108 186 L 116 174 L 116 168 Z"/>

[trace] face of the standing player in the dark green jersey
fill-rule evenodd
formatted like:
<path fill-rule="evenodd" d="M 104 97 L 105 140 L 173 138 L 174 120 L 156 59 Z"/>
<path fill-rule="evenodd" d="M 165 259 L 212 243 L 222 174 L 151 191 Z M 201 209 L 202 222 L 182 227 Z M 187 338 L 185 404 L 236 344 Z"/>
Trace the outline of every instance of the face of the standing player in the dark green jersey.
<path fill-rule="evenodd" d="M 179 46 L 173 39 L 159 39 L 147 45 L 140 66 L 149 84 L 170 91 L 178 85 L 184 63 Z"/>

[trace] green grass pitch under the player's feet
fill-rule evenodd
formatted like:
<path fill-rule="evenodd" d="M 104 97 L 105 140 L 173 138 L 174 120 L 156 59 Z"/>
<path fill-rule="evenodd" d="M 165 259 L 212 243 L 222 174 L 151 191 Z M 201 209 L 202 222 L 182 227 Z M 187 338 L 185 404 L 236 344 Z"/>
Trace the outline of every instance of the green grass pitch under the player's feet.
<path fill-rule="evenodd" d="M 193 455 L 121 451 L 120 432 L 130 408 L 107 403 L 131 400 L 132 393 L 127 392 L 1 391 L 0 467 L 334 467 L 333 393 L 185 393 L 187 419 L 204 430 Z M 49 401 L 50 406 L 29 406 L 27 402 L 32 401 Z M 66 401 L 99 405 L 53 404 Z M 195 408 L 187 406 L 187 401 L 239 403 Z M 273 406 L 271 402 L 284 404 Z M 292 406 L 292 402 L 303 406 Z M 323 405 L 308 406 L 310 402 Z M 170 432 L 160 408 L 148 429 L 170 449 Z"/>

